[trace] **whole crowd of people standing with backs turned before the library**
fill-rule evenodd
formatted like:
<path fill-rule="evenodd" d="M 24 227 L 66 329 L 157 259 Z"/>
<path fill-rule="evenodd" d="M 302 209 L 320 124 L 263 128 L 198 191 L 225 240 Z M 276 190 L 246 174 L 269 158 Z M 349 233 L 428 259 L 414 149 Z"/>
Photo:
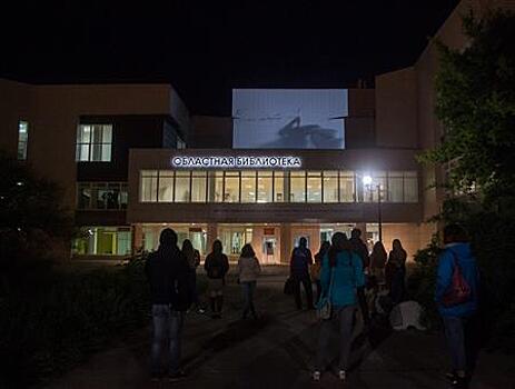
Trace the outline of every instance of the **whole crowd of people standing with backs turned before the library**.
<path fill-rule="evenodd" d="M 471 358 L 467 339 L 471 338 L 471 322 L 474 321 L 472 318 L 477 310 L 478 277 L 463 229 L 450 226 L 444 231 L 444 240 L 447 246 L 438 266 L 435 300 L 443 317 L 453 357 L 454 369 L 448 373 L 448 379 L 453 386 L 464 387 L 474 359 Z M 313 380 L 319 381 L 327 368 L 328 342 L 335 328 L 338 329 L 340 339 L 337 376 L 340 380 L 346 379 L 356 312 L 359 312 L 364 330 L 367 331 L 370 320 L 377 313 L 378 295 L 387 299 L 390 307 L 406 298 L 406 259 L 407 253 L 398 239 L 393 240 L 388 253 L 380 241 L 374 245 L 369 253 L 359 229 L 354 229 L 350 238 L 344 232 L 335 232 L 330 242 L 321 242 L 315 256 L 308 248 L 307 239 L 299 239 L 298 246 L 291 252 L 287 283 L 290 286 L 297 309 L 303 309 L 303 287 L 306 309 L 317 309 L 317 313 L 320 313 Z M 164 346 L 168 348 L 170 356 L 167 365 L 168 378 L 174 381 L 185 376 L 180 368 L 185 315 L 191 306 L 198 312 L 205 312 L 196 287 L 199 266 L 200 255 L 191 241 L 185 240 L 182 249 L 179 249 L 176 232 L 171 229 L 161 231 L 159 248 L 150 255 L 146 266 L 152 302 L 151 373 L 155 379 L 161 375 Z M 212 243 L 204 269 L 208 280 L 210 313 L 214 319 L 219 319 L 222 312 L 226 276 L 229 271 L 229 260 L 219 240 Z M 257 319 L 254 296 L 261 267 L 251 245 L 242 247 L 236 269 L 244 301 L 241 319 L 246 320 L 249 315 Z M 462 289 L 465 285 L 468 295 L 465 299 L 462 296 L 463 300 L 448 303 L 447 300 L 452 300 L 449 289 L 455 288 L 456 269 L 460 270 Z M 315 298 L 313 285 L 316 287 Z"/>

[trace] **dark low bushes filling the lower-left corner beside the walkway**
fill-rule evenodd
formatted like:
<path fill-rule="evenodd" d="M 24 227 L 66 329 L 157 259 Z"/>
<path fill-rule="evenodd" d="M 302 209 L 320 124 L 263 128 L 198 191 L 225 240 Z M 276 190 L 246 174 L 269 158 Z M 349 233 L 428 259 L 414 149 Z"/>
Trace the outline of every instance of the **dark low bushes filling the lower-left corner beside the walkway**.
<path fill-rule="evenodd" d="M 0 271 L 1 388 L 41 382 L 148 321 L 142 260 L 87 273 L 4 261 Z"/>

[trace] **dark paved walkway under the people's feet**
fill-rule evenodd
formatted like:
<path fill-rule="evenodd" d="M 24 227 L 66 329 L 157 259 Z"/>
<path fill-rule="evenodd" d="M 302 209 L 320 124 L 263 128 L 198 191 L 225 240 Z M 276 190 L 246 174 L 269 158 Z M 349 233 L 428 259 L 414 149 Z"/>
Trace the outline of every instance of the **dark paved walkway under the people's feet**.
<path fill-rule="evenodd" d="M 236 285 L 227 288 L 221 320 L 188 315 L 184 360 L 190 376 L 185 381 L 149 381 L 146 329 L 93 356 L 50 388 L 340 388 L 330 372 L 320 383 L 310 382 L 317 322 L 314 312 L 295 310 L 291 299 L 281 293 L 284 279 L 280 271 L 268 271 L 260 279 L 257 307 L 263 318 L 257 322 L 239 320 Z M 357 336 L 353 361 L 347 388 L 448 388 L 442 378 L 447 368 L 442 337 L 376 330 L 369 338 Z M 515 389 L 515 361 L 482 355 L 471 388 Z"/>

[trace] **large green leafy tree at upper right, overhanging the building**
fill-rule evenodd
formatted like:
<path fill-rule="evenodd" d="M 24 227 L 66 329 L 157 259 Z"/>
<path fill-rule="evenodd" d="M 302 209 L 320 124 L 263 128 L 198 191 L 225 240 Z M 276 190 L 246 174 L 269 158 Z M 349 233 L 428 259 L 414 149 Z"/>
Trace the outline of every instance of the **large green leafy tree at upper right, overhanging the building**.
<path fill-rule="evenodd" d="M 469 44 L 455 50 L 438 42 L 436 114 L 442 144 L 422 156 L 449 163 L 448 184 L 478 189 L 483 205 L 515 196 L 515 14 L 495 10 L 464 18 Z"/>

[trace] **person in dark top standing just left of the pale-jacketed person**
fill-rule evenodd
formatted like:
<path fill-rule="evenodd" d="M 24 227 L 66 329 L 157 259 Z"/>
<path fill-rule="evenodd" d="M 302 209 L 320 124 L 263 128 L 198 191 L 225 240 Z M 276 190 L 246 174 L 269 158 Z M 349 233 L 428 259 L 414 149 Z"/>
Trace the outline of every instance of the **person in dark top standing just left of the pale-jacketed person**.
<path fill-rule="evenodd" d="M 221 318 L 224 306 L 224 286 L 226 275 L 229 271 L 229 260 L 222 252 L 221 241 L 218 239 L 212 242 L 212 251 L 206 257 L 204 269 L 208 278 L 208 292 L 211 305 L 211 317 Z"/>

